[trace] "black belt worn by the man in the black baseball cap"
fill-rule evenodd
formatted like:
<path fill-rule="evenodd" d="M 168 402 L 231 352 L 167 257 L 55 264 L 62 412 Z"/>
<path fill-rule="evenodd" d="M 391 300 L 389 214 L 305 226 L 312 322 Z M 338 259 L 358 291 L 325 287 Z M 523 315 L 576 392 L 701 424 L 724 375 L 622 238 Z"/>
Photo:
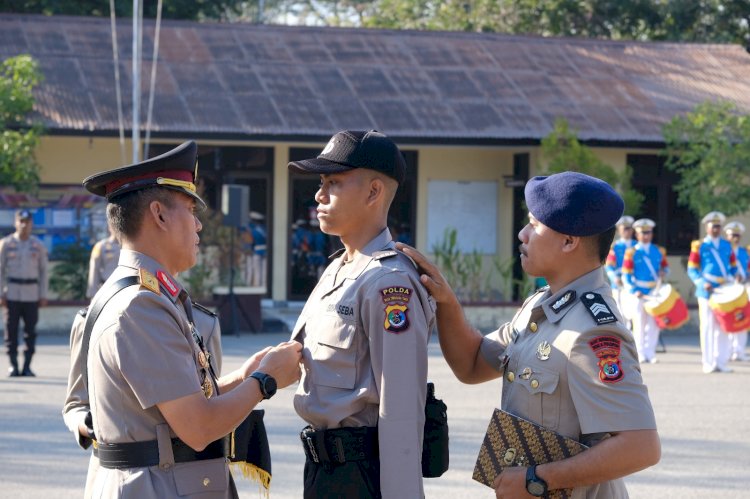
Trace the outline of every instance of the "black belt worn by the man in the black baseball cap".
<path fill-rule="evenodd" d="M 335 465 L 379 459 L 377 427 L 314 430 L 308 426 L 299 436 L 305 456 L 314 463 Z"/>

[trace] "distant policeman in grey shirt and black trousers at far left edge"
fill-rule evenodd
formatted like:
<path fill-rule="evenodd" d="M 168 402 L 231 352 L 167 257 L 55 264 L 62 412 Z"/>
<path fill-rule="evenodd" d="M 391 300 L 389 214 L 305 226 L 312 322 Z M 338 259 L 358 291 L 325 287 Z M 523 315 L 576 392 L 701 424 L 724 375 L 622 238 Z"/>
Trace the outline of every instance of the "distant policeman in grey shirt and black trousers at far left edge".
<path fill-rule="evenodd" d="M 18 210 L 16 231 L 0 240 L 0 307 L 5 312 L 8 376 L 34 376 L 31 359 L 36 350 L 39 307 L 47 305 L 47 248 L 31 235 L 29 210 Z M 23 319 L 23 368 L 18 369 L 18 327 Z"/>

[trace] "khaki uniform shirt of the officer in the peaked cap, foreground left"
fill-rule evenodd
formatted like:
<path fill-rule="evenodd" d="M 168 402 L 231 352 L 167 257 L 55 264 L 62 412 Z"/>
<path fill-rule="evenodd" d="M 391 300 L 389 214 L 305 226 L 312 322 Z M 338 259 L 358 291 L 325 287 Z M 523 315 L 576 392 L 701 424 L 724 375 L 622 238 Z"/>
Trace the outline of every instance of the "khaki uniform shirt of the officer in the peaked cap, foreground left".
<path fill-rule="evenodd" d="M 88 357 L 94 433 L 100 442 L 158 440 L 160 449 L 169 449 L 169 439 L 176 435 L 156 404 L 202 392 L 200 350 L 178 300 L 182 287 L 156 261 L 122 250 L 119 266 L 107 283 L 137 275 L 141 269 L 166 281 L 172 292 L 157 294 L 144 285 L 131 286 L 102 310 Z M 91 497 L 234 497 L 226 459 L 174 464 L 170 454 L 160 452 L 158 466 L 99 468 Z"/>

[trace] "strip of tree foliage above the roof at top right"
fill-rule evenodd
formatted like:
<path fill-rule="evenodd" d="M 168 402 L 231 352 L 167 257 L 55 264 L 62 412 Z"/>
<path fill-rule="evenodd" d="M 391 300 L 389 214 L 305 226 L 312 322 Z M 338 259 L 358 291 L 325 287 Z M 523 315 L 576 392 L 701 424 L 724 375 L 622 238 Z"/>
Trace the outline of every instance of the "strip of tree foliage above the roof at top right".
<path fill-rule="evenodd" d="M 750 0 L 377 0 L 363 25 L 747 44 Z"/>

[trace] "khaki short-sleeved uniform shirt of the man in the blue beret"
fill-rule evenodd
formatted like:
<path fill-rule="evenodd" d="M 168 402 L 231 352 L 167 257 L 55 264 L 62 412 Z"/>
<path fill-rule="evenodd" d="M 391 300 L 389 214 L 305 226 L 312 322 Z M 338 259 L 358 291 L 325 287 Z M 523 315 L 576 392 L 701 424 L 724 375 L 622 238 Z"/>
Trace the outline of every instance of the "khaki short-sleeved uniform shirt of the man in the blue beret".
<path fill-rule="evenodd" d="M 588 445 L 610 432 L 656 428 L 633 335 L 601 269 L 554 295 L 537 292 L 483 339 L 481 353 L 503 373 L 501 406 L 511 414 Z M 573 497 L 628 494 L 618 479 L 576 488 Z"/>

